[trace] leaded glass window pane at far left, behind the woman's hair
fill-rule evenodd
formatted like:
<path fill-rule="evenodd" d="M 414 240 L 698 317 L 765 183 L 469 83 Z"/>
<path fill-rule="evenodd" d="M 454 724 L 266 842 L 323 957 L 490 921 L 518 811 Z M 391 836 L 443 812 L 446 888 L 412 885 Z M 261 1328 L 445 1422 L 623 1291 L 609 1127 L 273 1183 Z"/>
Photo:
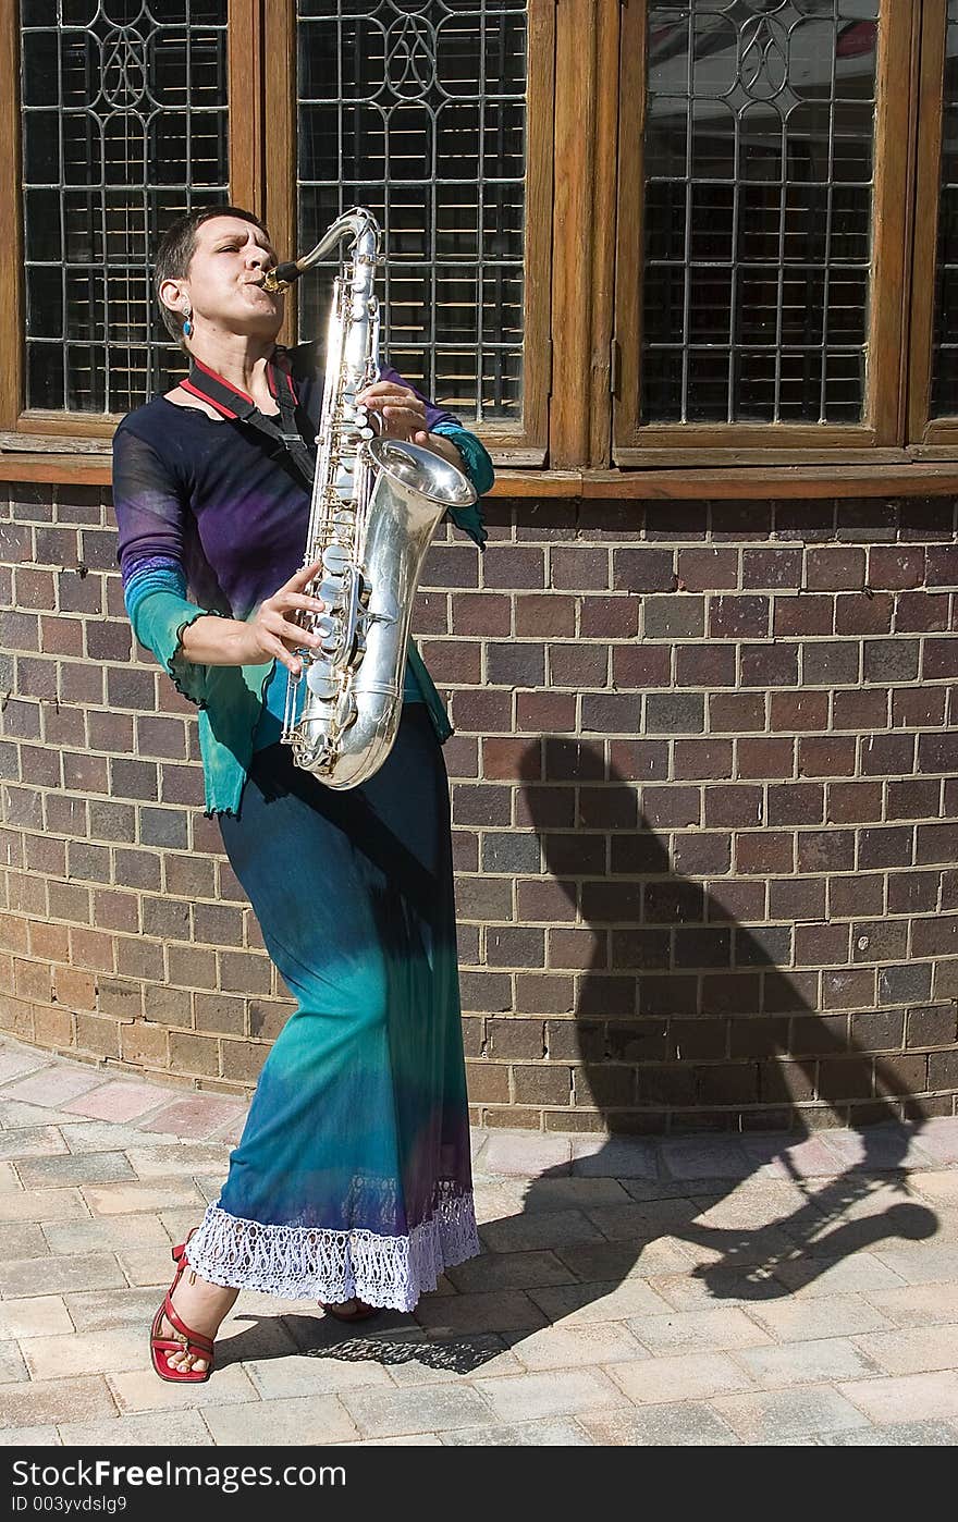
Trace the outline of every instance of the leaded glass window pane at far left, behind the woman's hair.
<path fill-rule="evenodd" d="M 149 259 L 227 199 L 227 0 L 20 0 L 26 405 L 126 412 L 169 384 Z"/>

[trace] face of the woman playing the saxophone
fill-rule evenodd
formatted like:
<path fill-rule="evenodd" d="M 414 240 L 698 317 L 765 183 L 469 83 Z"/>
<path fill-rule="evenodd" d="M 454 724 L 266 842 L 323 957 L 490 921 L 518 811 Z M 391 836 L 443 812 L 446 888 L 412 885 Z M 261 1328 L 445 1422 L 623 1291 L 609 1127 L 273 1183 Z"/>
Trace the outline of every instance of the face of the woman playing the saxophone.
<path fill-rule="evenodd" d="M 218 332 L 274 338 L 283 321 L 283 298 L 260 285 L 274 263 L 276 253 L 259 227 L 238 216 L 213 216 L 196 228 L 189 271 L 175 282 L 180 300 L 169 304 L 181 307 L 183 297 L 189 300 L 196 336 L 210 326 Z"/>

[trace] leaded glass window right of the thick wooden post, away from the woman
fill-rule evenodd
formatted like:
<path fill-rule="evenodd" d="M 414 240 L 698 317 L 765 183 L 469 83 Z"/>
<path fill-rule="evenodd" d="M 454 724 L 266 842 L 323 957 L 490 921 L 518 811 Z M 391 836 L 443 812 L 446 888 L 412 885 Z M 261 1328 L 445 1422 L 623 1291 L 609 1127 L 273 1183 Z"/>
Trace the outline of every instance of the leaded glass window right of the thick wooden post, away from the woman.
<path fill-rule="evenodd" d="M 861 423 L 877 0 L 649 5 L 644 423 Z"/>

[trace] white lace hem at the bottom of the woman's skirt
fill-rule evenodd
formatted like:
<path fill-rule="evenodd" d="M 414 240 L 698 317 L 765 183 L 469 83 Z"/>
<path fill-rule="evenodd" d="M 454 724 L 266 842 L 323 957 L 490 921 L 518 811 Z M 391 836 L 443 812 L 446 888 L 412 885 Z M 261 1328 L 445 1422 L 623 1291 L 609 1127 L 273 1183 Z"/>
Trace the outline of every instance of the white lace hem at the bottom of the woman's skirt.
<path fill-rule="evenodd" d="M 283 1300 L 358 1295 L 370 1306 L 411 1310 L 443 1268 L 481 1253 L 471 1193 L 440 1186 L 433 1215 L 408 1236 L 263 1225 L 207 1205 L 186 1256 L 203 1278 Z"/>

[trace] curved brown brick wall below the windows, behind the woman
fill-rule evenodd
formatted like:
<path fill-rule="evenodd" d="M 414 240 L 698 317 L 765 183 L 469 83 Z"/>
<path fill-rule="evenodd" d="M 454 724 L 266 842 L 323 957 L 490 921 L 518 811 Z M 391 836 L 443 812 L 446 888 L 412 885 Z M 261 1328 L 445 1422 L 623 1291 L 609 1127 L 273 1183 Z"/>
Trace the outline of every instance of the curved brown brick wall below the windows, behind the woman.
<path fill-rule="evenodd" d="M 457 726 L 474 1120 L 952 1114 L 953 504 L 487 508 L 416 613 Z M 110 511 L 14 486 L 0 514 L 0 1027 L 250 1087 L 291 1005 Z"/>

